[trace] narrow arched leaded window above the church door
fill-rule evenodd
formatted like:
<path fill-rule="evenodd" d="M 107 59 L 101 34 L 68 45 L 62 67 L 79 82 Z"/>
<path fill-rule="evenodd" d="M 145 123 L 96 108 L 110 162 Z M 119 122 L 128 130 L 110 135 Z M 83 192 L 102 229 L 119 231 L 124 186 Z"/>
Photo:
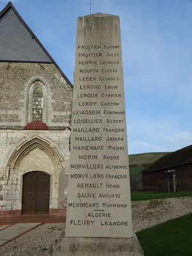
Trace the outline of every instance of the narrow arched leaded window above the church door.
<path fill-rule="evenodd" d="M 41 88 L 33 91 L 33 121 L 42 121 L 43 114 L 43 92 Z"/>

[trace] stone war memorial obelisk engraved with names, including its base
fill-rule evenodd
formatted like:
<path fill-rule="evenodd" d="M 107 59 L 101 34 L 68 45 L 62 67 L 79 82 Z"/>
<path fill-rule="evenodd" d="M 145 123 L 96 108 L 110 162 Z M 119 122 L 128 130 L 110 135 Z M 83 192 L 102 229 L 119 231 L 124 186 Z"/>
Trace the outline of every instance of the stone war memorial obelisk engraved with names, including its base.
<path fill-rule="evenodd" d="M 65 236 L 52 255 L 143 255 L 132 230 L 120 20 L 77 19 Z"/>

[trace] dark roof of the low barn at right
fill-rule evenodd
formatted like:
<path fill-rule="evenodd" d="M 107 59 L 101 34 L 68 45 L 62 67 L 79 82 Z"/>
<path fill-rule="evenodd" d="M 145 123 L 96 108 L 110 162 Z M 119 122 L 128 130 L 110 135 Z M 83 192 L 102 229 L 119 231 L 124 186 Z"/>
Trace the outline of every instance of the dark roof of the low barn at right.
<path fill-rule="evenodd" d="M 161 157 L 156 162 L 152 163 L 150 166 L 142 170 L 141 173 L 174 168 L 175 166 L 188 163 L 192 163 L 192 145 L 166 154 L 165 156 Z"/>

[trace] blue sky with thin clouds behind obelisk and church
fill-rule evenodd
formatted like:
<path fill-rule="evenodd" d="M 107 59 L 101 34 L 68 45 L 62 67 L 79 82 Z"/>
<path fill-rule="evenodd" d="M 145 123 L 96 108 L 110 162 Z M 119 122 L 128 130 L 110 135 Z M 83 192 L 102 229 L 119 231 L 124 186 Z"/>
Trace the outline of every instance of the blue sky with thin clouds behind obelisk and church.
<path fill-rule="evenodd" d="M 12 1 L 72 83 L 77 17 L 90 14 L 89 1 Z M 129 154 L 191 145 L 192 0 L 92 2 L 92 13 L 120 16 Z"/>

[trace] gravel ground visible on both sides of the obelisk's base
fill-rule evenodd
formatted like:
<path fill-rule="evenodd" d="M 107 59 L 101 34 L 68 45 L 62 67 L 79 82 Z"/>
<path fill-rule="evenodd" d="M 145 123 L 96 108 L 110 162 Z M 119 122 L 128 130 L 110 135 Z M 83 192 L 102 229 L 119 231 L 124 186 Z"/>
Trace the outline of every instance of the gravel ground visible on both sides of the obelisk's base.
<path fill-rule="evenodd" d="M 132 202 L 134 231 L 192 212 L 192 196 Z M 2 226 L 0 226 L 2 227 Z M 3 226 L 5 227 L 5 226 Z M 45 224 L 0 247 L 3 256 L 48 256 L 65 224 Z"/>

